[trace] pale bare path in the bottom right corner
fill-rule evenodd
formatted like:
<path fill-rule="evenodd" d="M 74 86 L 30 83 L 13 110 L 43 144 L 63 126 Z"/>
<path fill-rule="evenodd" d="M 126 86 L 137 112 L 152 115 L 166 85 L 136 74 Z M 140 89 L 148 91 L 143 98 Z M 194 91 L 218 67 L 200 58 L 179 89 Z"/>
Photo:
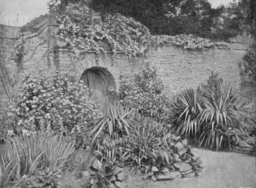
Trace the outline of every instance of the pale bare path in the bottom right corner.
<path fill-rule="evenodd" d="M 193 154 L 201 157 L 205 167 L 198 178 L 177 182 L 143 180 L 139 175 L 129 177 L 122 185 L 125 188 L 256 188 L 256 164 L 252 155 L 234 152 L 212 152 L 201 148 Z"/>

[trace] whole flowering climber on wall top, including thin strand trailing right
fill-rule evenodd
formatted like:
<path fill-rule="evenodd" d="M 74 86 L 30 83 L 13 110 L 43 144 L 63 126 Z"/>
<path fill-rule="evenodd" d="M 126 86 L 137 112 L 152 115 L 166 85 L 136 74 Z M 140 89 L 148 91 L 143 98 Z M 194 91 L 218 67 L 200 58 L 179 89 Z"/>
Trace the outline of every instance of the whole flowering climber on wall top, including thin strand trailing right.
<path fill-rule="evenodd" d="M 52 0 L 54 1 L 56 0 Z M 56 9 L 54 3 L 51 4 L 51 10 Z M 106 48 L 102 44 L 108 44 L 113 57 L 117 52 L 124 52 L 130 61 L 148 48 L 161 43 L 186 49 L 205 50 L 220 45 L 228 47 L 226 43 L 214 43 L 193 35 L 153 36 L 145 25 L 132 18 L 118 13 L 96 13 L 79 3 L 69 3 L 59 10 L 57 20 L 60 24 L 58 37 L 64 41 L 64 45 L 72 48 L 77 57 L 92 50 L 97 55 L 97 61 L 101 53 L 106 53 Z M 115 61 L 115 58 L 113 60 Z"/>

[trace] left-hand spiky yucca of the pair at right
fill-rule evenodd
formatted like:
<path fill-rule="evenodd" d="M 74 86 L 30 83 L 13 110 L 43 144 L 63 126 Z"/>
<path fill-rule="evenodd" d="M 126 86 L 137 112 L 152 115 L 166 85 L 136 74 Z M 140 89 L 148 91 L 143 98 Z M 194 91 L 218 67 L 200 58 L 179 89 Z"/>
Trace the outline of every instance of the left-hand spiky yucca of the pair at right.
<path fill-rule="evenodd" d="M 185 89 L 175 96 L 170 119 L 177 134 L 196 136 L 200 131 L 198 115 L 201 103 L 200 94 L 196 89 Z"/>

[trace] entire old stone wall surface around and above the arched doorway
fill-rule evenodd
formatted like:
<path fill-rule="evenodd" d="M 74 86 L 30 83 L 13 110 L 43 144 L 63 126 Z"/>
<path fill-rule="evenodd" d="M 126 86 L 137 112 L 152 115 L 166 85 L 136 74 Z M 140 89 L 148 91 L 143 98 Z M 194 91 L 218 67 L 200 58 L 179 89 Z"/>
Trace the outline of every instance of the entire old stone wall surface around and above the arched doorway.
<path fill-rule="evenodd" d="M 13 33 L 9 32 L 13 29 L 12 27 L 1 25 L 0 28 L 2 32 L 4 31 L 0 40 L 9 41 L 8 45 L 1 44 L 3 57 L 3 54 L 6 53 L 3 49 L 14 48 L 14 43 L 17 42 L 16 36 L 20 33 L 19 28 L 14 29 Z M 246 53 L 245 45 L 230 44 L 231 49 L 214 48 L 209 50 L 184 50 L 173 45 L 163 45 L 140 55 L 138 60 L 132 62 L 132 66 L 130 66 L 125 54 L 116 54 L 115 62 L 110 53 L 100 55 L 99 62 L 96 62 L 95 54 L 90 51 L 84 57 L 75 58 L 72 50 L 61 47 L 60 41 L 54 41 L 51 38 L 56 35 L 56 28 L 55 25 L 45 25 L 36 33 L 22 34 L 26 48 L 22 59 L 22 69 L 17 66 L 17 60 L 13 57 L 6 63 L 11 77 L 16 78 L 19 75 L 13 93 L 22 89 L 22 78 L 31 73 L 35 75 L 44 73 L 47 78 L 51 79 L 51 74 L 56 70 L 73 70 L 81 76 L 86 69 L 92 67 L 104 68 L 111 83 L 118 88 L 120 74 L 134 74 L 140 69 L 141 62 L 145 60 L 159 65 L 161 76 L 164 82 L 170 83 L 172 93 L 204 83 L 211 70 L 217 71 L 225 77 L 225 80 L 234 85 L 238 86 L 240 82 L 239 63 L 243 61 L 243 55 Z M 13 36 L 14 34 L 15 36 Z M 10 57 L 12 55 L 11 52 L 7 54 Z M 1 70 L 0 76 L 3 77 Z M 8 103 L 6 87 L 3 82 L 0 82 L 0 112 L 3 112 Z"/>

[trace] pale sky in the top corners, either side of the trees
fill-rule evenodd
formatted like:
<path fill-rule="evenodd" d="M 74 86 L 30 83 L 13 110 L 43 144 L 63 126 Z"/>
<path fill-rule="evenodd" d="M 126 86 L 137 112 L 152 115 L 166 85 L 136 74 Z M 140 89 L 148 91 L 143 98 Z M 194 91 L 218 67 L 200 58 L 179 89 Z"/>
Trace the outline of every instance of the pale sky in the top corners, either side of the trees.
<path fill-rule="evenodd" d="M 47 13 L 49 0 L 0 0 L 0 24 L 21 26 Z M 157 0 L 156 0 L 157 1 Z M 207 0 L 213 8 L 233 0 Z"/>

